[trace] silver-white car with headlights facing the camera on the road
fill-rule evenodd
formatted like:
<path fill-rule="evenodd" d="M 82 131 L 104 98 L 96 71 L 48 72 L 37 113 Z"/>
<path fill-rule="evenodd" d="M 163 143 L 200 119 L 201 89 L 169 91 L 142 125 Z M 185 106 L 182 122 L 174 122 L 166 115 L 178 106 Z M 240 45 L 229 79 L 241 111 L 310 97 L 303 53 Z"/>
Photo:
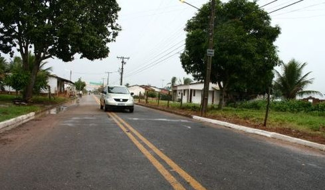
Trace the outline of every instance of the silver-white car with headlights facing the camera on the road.
<path fill-rule="evenodd" d="M 133 92 L 125 86 L 105 86 L 100 97 L 100 109 L 128 109 L 134 111 Z"/>

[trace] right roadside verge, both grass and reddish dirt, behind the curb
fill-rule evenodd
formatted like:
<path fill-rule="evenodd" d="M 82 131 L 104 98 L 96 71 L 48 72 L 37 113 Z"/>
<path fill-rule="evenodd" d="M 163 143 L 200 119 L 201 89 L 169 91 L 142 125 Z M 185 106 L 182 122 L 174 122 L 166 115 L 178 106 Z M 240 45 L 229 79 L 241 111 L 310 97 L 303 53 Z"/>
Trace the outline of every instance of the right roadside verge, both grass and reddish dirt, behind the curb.
<path fill-rule="evenodd" d="M 141 101 L 141 103 L 145 104 L 145 101 Z M 157 101 L 149 101 L 148 104 L 151 106 L 158 106 Z M 180 107 L 180 103 L 170 102 L 169 108 L 167 108 L 167 101 L 160 101 L 159 107 L 179 113 L 200 116 L 200 107 L 197 104 L 186 103 Z M 322 116 L 322 114 L 276 112 L 270 110 L 266 127 L 263 127 L 264 117 L 265 110 L 232 107 L 225 107 L 223 110 L 217 110 L 214 107 L 210 107 L 207 113 L 207 118 L 277 132 L 325 144 L 325 117 Z"/>

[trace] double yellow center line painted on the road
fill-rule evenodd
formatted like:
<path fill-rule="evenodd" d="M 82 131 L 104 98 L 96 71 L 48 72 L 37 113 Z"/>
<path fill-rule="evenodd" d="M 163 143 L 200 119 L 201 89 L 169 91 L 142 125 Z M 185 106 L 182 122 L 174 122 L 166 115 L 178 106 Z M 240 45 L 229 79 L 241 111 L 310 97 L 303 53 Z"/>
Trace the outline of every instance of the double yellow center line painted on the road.
<path fill-rule="evenodd" d="M 94 96 L 98 104 L 100 104 L 98 98 Z M 146 144 L 156 155 L 158 155 L 162 160 L 164 160 L 175 172 L 177 172 L 188 184 L 190 184 L 194 189 L 203 190 L 205 189 L 198 181 L 196 181 L 192 176 L 180 168 L 173 160 L 168 158 L 164 153 L 162 153 L 157 147 L 150 143 L 145 137 L 143 137 L 139 132 L 137 132 L 131 125 L 126 123 L 122 118 L 117 116 L 115 113 L 107 112 L 107 114 L 113 119 L 113 121 L 122 129 L 122 131 L 131 139 L 131 141 L 136 145 L 137 148 L 147 157 L 147 159 L 152 163 L 152 165 L 162 174 L 162 176 L 173 186 L 175 190 L 185 190 L 184 186 L 180 184 L 175 177 L 166 170 L 166 168 L 145 148 L 137 139 L 140 139 L 144 144 Z M 136 137 L 135 137 L 136 136 Z"/>

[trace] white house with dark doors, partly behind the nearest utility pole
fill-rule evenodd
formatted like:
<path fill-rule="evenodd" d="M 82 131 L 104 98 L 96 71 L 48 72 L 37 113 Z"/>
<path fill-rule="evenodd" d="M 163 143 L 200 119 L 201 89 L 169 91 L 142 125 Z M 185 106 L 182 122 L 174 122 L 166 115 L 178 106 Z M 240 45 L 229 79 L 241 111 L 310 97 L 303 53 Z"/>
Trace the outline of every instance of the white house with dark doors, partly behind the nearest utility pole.
<path fill-rule="evenodd" d="M 183 103 L 201 103 L 203 96 L 204 83 L 191 83 L 188 85 L 177 85 L 173 88 L 173 96 L 176 100 L 181 100 Z M 217 84 L 209 85 L 208 104 L 218 104 L 220 100 L 220 89 Z"/>

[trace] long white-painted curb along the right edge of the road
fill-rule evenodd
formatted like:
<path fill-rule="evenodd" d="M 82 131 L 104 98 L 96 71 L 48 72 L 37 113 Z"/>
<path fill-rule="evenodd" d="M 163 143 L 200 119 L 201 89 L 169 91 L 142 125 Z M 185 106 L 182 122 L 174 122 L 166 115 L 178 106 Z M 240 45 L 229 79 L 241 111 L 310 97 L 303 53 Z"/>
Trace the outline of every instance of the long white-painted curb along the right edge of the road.
<path fill-rule="evenodd" d="M 281 135 L 279 133 L 263 131 L 263 130 L 260 130 L 260 129 L 253 129 L 253 128 L 250 128 L 250 127 L 235 125 L 235 124 L 231 124 L 231 123 L 227 123 L 227 122 L 223 122 L 223 121 L 219 121 L 219 120 L 199 117 L 199 116 L 196 116 L 196 115 L 193 115 L 193 119 L 199 120 L 199 121 L 204 121 L 204 122 L 209 122 L 209 123 L 213 123 L 213 124 L 217 124 L 217 125 L 223 125 L 223 126 L 226 126 L 226 127 L 230 127 L 230 128 L 233 128 L 233 129 L 244 131 L 246 133 L 257 134 L 257 135 L 261 135 L 261 136 L 264 136 L 264 137 L 276 138 L 276 139 L 280 139 L 280 140 L 283 140 L 283 141 L 288 141 L 288 142 L 291 142 L 291 143 L 304 145 L 306 147 L 311 147 L 311 148 L 315 148 L 315 149 L 325 151 L 325 145 L 310 142 L 310 141 L 299 139 L 299 138 L 289 137 L 289 136 L 286 136 L 286 135 Z"/>

